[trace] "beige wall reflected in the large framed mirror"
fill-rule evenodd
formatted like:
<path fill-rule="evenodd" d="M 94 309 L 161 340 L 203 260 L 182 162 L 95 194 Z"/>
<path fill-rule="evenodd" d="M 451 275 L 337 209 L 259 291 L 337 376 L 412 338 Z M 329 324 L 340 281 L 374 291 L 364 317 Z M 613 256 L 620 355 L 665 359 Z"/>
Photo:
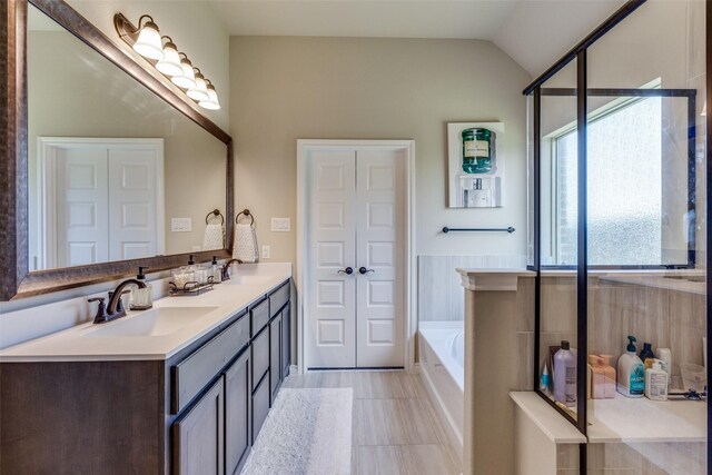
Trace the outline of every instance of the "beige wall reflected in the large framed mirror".
<path fill-rule="evenodd" d="M 30 260 L 39 238 L 38 137 L 162 138 L 165 254 L 202 245 L 205 216 L 226 209 L 221 141 L 65 31 L 29 32 L 28 83 Z M 171 217 L 192 218 L 192 231 L 171 232 Z"/>

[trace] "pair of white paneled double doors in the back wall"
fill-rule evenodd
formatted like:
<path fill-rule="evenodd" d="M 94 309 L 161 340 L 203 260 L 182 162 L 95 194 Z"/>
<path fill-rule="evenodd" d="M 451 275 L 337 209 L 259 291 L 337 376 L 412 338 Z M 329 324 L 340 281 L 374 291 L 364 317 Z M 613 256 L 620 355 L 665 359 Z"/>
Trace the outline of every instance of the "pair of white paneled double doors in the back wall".
<path fill-rule="evenodd" d="M 308 368 L 404 366 L 404 154 L 308 154 Z"/>

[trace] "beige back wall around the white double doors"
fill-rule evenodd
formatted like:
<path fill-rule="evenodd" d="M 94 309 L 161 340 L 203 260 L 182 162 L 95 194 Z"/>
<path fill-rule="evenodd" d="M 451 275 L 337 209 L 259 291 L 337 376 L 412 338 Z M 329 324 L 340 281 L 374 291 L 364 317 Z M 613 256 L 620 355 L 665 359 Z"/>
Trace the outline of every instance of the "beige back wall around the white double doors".
<path fill-rule="evenodd" d="M 230 130 L 236 206 L 273 260 L 296 257 L 296 140 L 414 139 L 416 254 L 523 255 L 525 116 L 531 77 L 486 41 L 233 37 Z M 503 121 L 506 207 L 446 208 L 448 121 Z M 271 217 L 293 231 L 269 231 Z M 514 226 L 443 235 L 443 226 Z"/>

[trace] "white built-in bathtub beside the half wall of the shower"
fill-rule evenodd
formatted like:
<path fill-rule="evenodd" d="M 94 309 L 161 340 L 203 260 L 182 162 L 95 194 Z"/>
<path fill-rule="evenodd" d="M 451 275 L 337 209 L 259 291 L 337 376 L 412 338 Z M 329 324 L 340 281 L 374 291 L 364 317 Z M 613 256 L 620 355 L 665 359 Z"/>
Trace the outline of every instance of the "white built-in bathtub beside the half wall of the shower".
<path fill-rule="evenodd" d="M 418 325 L 421 378 L 461 458 L 465 420 L 464 325 L 464 321 L 421 321 Z"/>

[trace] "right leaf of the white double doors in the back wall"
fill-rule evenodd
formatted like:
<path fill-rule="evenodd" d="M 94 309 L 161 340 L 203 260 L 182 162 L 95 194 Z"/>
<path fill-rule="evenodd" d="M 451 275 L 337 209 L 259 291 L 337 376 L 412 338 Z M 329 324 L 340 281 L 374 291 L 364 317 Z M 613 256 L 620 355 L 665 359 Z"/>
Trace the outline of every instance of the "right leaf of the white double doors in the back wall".
<path fill-rule="evenodd" d="M 404 364 L 403 149 L 356 156 L 356 365 Z"/>

